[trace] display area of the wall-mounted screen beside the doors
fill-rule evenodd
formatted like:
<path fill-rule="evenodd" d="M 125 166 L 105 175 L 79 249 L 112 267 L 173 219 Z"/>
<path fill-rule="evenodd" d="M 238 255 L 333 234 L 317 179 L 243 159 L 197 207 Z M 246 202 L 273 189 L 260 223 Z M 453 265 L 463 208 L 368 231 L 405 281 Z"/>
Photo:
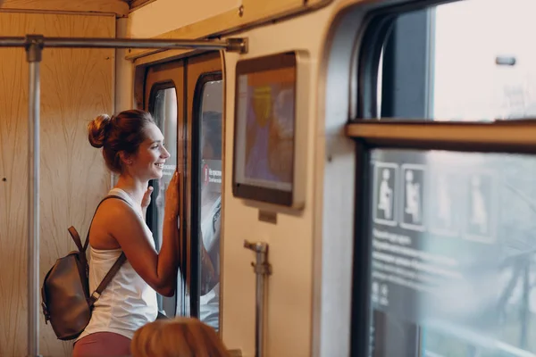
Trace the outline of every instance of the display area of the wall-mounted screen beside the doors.
<path fill-rule="evenodd" d="M 236 182 L 292 190 L 296 67 L 238 75 Z"/>

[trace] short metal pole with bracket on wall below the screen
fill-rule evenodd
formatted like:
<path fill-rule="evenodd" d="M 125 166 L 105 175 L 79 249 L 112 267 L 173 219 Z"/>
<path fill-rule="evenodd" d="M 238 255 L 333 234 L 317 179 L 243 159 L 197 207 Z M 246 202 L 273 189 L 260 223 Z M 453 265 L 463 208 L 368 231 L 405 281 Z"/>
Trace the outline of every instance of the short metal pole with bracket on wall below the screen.
<path fill-rule="evenodd" d="M 268 262 L 268 245 L 244 241 L 244 247 L 255 252 L 255 263 L 251 263 L 255 271 L 255 357 L 264 355 L 264 285 L 265 278 L 272 274 L 272 266 Z"/>

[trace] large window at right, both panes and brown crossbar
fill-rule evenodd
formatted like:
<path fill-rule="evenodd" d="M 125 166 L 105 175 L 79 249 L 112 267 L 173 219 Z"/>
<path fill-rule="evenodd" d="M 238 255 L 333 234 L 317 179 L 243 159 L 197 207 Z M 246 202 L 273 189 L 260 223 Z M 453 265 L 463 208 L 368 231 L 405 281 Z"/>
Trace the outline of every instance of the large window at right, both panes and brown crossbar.
<path fill-rule="evenodd" d="M 536 7 L 425 5 L 361 44 L 352 355 L 534 356 Z"/>

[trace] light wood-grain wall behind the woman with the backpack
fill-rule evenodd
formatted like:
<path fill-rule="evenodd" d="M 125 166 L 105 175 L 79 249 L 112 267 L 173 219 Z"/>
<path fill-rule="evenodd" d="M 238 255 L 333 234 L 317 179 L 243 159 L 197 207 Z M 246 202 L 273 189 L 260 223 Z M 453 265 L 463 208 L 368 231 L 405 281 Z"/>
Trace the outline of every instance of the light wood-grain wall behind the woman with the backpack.
<path fill-rule="evenodd" d="M 0 36 L 114 37 L 114 16 L 0 12 Z M 88 144 L 88 120 L 113 112 L 114 51 L 45 49 L 41 62 L 41 281 L 85 237 L 109 188 L 102 154 Z M 0 49 L 0 355 L 26 355 L 28 64 L 22 49 Z M 70 355 L 41 316 L 40 353 Z"/>

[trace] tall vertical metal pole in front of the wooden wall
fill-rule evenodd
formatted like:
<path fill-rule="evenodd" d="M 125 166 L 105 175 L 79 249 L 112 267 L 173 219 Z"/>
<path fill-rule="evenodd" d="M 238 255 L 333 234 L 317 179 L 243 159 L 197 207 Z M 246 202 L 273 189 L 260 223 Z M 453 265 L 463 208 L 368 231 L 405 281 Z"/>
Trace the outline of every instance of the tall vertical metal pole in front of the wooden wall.
<path fill-rule="evenodd" d="M 27 37 L 28 108 L 28 356 L 39 356 L 39 63 L 42 36 Z"/>

